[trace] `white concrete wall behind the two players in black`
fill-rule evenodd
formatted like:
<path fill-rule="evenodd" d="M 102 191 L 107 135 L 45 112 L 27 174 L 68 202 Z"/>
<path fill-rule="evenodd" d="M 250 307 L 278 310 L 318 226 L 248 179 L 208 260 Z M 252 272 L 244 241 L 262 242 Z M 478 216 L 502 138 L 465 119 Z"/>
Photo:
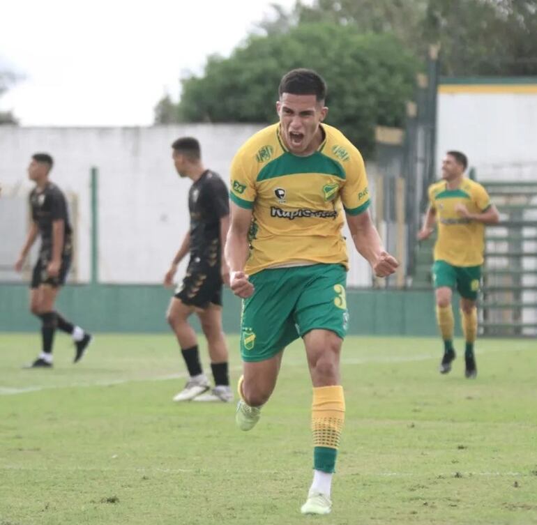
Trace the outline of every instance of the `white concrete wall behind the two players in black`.
<path fill-rule="evenodd" d="M 78 198 L 77 277 L 91 273 L 90 169 L 99 170 L 100 282 L 157 283 L 188 229 L 187 193 L 171 160 L 171 144 L 190 135 L 202 144 L 207 167 L 229 178 L 239 146 L 260 125 L 169 125 L 151 128 L 18 128 L 0 127 L 0 184 L 6 197 L 26 199 L 31 183 L 26 168 L 32 153 L 54 157 L 51 179 Z M 3 199 L 0 198 L 0 206 Z M 4 200 L 7 202 L 7 199 Z M 3 215 L 0 214 L 0 217 Z M 0 225 L 20 249 L 20 229 Z M 13 241 L 13 236 L 15 240 Z M 6 234 L 4 233 L 4 237 Z M 350 246 L 349 284 L 370 286 L 371 272 Z M 13 257 L 16 257 L 14 254 Z M 178 277 L 184 271 L 179 268 Z"/>

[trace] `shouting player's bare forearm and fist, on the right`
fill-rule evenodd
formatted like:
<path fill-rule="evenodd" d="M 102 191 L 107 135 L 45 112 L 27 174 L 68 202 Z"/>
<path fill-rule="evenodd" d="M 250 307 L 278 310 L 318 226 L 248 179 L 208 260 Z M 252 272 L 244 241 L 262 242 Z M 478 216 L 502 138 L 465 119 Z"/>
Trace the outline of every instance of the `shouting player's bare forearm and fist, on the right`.
<path fill-rule="evenodd" d="M 387 277 L 397 270 L 399 263 L 395 257 L 384 250 L 369 210 L 359 215 L 347 215 L 347 225 L 349 225 L 356 250 L 369 262 L 377 277 Z"/>

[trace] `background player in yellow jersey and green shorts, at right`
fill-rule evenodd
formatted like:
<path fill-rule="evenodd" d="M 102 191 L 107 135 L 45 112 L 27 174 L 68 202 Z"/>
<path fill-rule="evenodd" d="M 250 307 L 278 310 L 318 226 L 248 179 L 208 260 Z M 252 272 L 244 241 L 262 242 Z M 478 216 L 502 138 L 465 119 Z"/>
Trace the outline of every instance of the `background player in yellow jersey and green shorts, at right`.
<path fill-rule="evenodd" d="M 434 245 L 432 277 L 437 303 L 437 321 L 444 340 L 441 374 L 451 370 L 453 349 L 453 289 L 460 294 L 462 331 L 466 340 L 465 376 L 477 376 L 474 342 L 477 336 L 476 300 L 485 249 L 485 225 L 496 224 L 499 215 L 481 184 L 464 177 L 468 160 L 460 151 L 448 151 L 442 161 L 442 180 L 429 187 L 429 207 L 418 233 L 423 241 L 438 225 Z"/>

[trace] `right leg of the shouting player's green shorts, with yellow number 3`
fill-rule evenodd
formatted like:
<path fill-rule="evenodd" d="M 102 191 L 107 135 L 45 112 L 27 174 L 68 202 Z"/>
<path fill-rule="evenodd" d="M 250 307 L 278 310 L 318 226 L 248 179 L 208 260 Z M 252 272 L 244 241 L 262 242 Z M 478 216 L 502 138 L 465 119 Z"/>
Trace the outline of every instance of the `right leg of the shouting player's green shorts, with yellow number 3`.
<path fill-rule="evenodd" d="M 342 340 L 347 334 L 347 272 L 339 264 L 304 266 L 305 285 L 296 302 L 294 319 L 301 337 L 311 330 L 329 330 Z"/>

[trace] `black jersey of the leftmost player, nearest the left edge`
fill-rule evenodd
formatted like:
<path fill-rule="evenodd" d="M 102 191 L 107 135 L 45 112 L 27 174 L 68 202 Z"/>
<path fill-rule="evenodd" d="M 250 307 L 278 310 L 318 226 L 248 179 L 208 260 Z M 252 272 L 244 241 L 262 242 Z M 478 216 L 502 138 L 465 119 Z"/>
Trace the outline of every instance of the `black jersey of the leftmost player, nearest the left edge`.
<path fill-rule="evenodd" d="M 53 183 L 47 183 L 43 190 L 34 188 L 30 193 L 31 218 L 38 225 L 41 236 L 40 252 L 52 255 L 52 222 L 63 220 L 62 254 L 71 249 L 72 229 L 69 222 L 67 201 L 63 193 Z"/>

